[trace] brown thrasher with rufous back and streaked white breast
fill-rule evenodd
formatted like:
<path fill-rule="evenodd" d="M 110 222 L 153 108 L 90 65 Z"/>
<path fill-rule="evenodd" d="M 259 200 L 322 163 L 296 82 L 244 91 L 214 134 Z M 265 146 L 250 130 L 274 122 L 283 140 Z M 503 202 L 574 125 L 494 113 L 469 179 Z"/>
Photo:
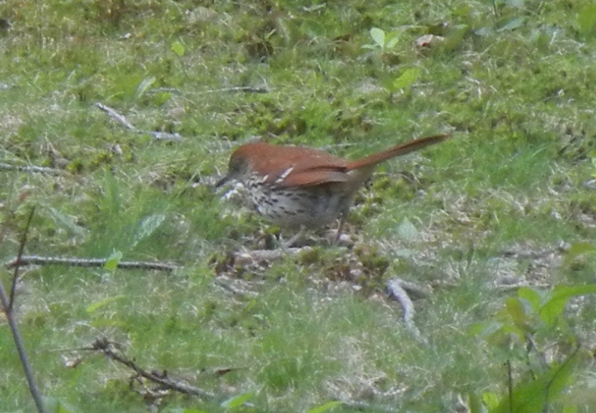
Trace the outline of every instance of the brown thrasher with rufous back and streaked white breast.
<path fill-rule="evenodd" d="M 257 212 L 280 226 L 318 228 L 337 218 L 343 223 L 356 192 L 377 164 L 448 137 L 417 139 L 355 161 L 311 148 L 244 144 L 232 153 L 228 174 L 216 187 L 240 181 Z"/>

